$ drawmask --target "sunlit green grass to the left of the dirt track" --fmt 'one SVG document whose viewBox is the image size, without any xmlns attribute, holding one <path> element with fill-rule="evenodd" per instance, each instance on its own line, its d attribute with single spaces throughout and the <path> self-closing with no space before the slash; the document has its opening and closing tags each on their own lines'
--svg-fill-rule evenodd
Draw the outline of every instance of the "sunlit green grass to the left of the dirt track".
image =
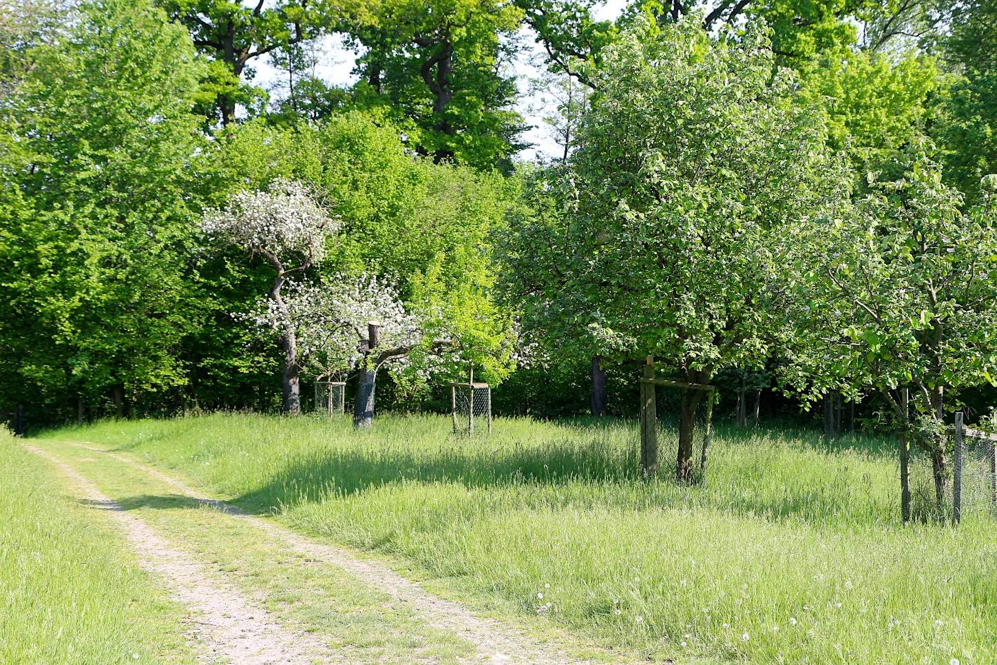
<svg viewBox="0 0 997 665">
<path fill-rule="evenodd" d="M 0 429 L 0 663 L 192 663 L 121 534 Z"/>
</svg>

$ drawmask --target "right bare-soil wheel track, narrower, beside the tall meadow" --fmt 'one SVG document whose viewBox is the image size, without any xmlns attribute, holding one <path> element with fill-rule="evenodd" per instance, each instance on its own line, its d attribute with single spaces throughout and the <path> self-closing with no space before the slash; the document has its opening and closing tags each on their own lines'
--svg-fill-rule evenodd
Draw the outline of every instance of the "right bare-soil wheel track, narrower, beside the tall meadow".
<svg viewBox="0 0 997 665">
<path fill-rule="evenodd" d="M 357 580 L 389 594 L 398 602 L 405 603 L 409 609 L 420 616 L 427 624 L 457 634 L 472 643 L 477 650 L 477 654 L 474 656 L 472 662 L 522 665 L 574 665 L 576 663 L 580 665 L 583 662 L 590 662 L 574 659 L 564 650 L 544 644 L 494 619 L 476 616 L 463 605 L 433 595 L 423 589 L 417 582 L 399 575 L 382 563 L 358 558 L 340 547 L 314 542 L 279 524 L 274 524 L 264 518 L 243 513 L 236 506 L 209 497 L 203 492 L 199 492 L 155 468 L 103 448 L 88 445 L 87 443 L 79 441 L 63 442 L 99 452 L 130 464 L 156 477 L 183 496 L 211 505 L 235 518 L 246 520 L 253 526 L 263 530 L 268 536 L 283 541 L 289 548 L 301 554 L 339 566 L 353 575 Z M 44 451 L 38 451 L 45 454 Z M 79 476 L 75 471 L 73 473 Z M 148 530 L 148 527 L 146 528 Z M 255 614 L 255 616 L 259 616 L 259 614 Z M 342 662 L 339 659 L 337 661 Z M 266 661 L 239 660 L 237 662 L 256 663 Z"/>
</svg>

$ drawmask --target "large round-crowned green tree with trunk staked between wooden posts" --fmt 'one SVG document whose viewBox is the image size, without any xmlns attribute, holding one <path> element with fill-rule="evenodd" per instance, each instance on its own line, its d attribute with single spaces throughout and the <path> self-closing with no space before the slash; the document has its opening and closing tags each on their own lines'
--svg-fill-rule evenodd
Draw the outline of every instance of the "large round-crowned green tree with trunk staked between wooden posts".
<svg viewBox="0 0 997 665">
<path fill-rule="evenodd" d="M 589 318 L 598 312 L 604 328 L 687 382 L 761 362 L 773 332 L 775 240 L 839 183 L 824 127 L 785 102 L 793 77 L 773 76 L 756 27 L 714 39 L 697 18 L 628 33 L 604 57 L 553 209 L 565 254 L 544 265 Z M 546 252 L 538 242 L 517 248 L 520 262 Z M 540 278 L 524 287 L 542 290 Z M 684 480 L 703 396 L 683 393 Z"/>
</svg>

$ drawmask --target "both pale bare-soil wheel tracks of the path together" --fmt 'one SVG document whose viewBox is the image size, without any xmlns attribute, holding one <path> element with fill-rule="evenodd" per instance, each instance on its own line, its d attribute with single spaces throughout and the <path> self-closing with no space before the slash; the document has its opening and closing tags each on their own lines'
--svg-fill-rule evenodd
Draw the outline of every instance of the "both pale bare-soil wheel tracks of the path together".
<svg viewBox="0 0 997 665">
<path fill-rule="evenodd" d="M 384 564 L 358 558 L 347 550 L 315 542 L 271 520 L 245 514 L 235 506 L 206 496 L 176 478 L 127 456 L 77 441 L 61 443 L 86 448 L 105 456 L 108 462 L 113 459 L 138 469 L 178 495 L 213 506 L 226 518 L 241 520 L 259 529 L 268 540 L 279 541 L 284 547 L 307 555 L 309 560 L 338 567 L 372 590 L 388 594 L 394 602 L 404 604 L 422 625 L 470 643 L 472 655 L 457 657 L 459 662 L 536 665 L 579 662 L 562 648 L 541 642 L 495 619 L 478 616 L 459 603 L 427 592 L 418 583 Z M 212 569 L 207 562 L 198 560 L 184 551 L 185 548 L 177 546 L 189 543 L 170 543 L 162 532 L 124 510 L 71 464 L 71 460 L 35 445 L 25 444 L 25 447 L 57 465 L 76 483 L 92 505 L 109 511 L 122 527 L 142 565 L 165 581 L 176 601 L 198 613 L 198 623 L 205 627 L 201 636 L 206 638 L 214 659 L 239 665 L 351 662 L 350 651 L 334 646 L 335 640 L 330 646 L 330 641 L 321 635 L 289 626 L 272 616 L 258 599 L 240 592 L 233 580 L 226 579 L 224 571 Z M 415 660 L 425 659 L 414 655 Z"/>
</svg>

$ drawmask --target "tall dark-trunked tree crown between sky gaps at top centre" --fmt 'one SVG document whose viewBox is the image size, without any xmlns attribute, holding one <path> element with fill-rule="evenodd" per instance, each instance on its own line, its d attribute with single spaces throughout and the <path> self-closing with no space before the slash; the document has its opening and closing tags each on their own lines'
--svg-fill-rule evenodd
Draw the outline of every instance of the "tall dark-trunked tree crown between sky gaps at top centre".
<svg viewBox="0 0 997 665">
<path fill-rule="evenodd" d="M 358 50 L 360 103 L 390 105 L 414 125 L 411 141 L 436 161 L 492 169 L 519 145 L 515 81 L 503 40 L 520 11 L 497 0 L 385 0 L 342 28 Z"/>
</svg>

